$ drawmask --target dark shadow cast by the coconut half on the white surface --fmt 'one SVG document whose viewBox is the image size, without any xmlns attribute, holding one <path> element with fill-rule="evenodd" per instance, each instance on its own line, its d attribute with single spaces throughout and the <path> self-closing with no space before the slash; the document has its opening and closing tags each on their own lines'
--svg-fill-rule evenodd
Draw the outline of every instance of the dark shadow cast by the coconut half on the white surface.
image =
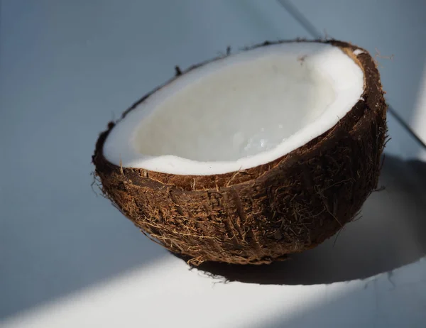
<svg viewBox="0 0 426 328">
<path fill-rule="evenodd" d="M 386 156 L 361 217 L 323 244 L 261 266 L 207 262 L 194 268 L 244 283 L 313 285 L 368 278 L 426 254 L 426 163 Z M 185 258 L 182 258 L 185 259 Z"/>
</svg>

